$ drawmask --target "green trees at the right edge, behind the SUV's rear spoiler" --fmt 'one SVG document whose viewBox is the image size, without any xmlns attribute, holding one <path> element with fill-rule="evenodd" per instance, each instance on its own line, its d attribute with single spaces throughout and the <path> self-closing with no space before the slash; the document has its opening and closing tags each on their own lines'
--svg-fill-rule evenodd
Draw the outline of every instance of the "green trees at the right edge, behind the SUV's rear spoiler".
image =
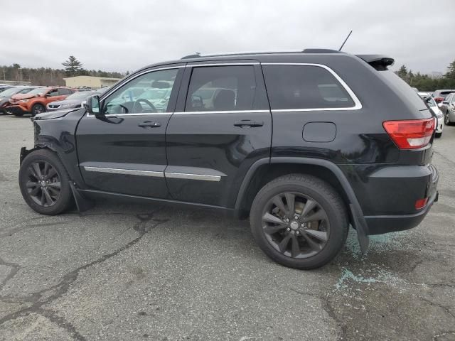
<svg viewBox="0 0 455 341">
<path fill-rule="evenodd" d="M 420 72 L 412 72 L 408 70 L 406 65 L 402 65 L 400 69 L 395 71 L 402 80 L 412 87 L 416 87 L 419 91 L 434 91 L 437 89 L 455 89 L 455 60 L 447 67 L 447 72 L 441 77 L 432 77 L 430 75 L 422 75 Z"/>
</svg>

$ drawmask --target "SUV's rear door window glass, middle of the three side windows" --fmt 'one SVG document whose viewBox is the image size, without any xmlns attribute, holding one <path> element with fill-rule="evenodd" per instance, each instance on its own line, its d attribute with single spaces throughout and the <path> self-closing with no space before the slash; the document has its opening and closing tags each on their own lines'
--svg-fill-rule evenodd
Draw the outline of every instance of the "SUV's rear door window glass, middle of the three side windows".
<svg viewBox="0 0 455 341">
<path fill-rule="evenodd" d="M 250 110 L 256 92 L 252 65 L 195 67 L 186 97 L 186 112 Z"/>
</svg>

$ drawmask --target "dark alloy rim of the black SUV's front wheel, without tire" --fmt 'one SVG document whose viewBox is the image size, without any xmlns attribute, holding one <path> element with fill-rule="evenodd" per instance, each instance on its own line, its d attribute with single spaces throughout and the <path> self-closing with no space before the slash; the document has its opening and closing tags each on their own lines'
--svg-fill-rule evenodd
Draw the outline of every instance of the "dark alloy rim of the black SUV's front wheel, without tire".
<svg viewBox="0 0 455 341">
<path fill-rule="evenodd" d="M 60 197 L 60 176 L 47 161 L 36 161 L 27 168 L 28 195 L 38 205 L 49 207 Z"/>
</svg>

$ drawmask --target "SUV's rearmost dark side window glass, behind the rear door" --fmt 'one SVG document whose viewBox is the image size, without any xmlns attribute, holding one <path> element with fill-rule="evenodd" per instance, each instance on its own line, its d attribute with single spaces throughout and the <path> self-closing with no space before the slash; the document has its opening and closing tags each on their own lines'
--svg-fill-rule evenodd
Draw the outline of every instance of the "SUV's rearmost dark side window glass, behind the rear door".
<svg viewBox="0 0 455 341">
<path fill-rule="evenodd" d="M 264 65 L 272 109 L 353 107 L 353 99 L 328 70 L 306 65 Z"/>
</svg>

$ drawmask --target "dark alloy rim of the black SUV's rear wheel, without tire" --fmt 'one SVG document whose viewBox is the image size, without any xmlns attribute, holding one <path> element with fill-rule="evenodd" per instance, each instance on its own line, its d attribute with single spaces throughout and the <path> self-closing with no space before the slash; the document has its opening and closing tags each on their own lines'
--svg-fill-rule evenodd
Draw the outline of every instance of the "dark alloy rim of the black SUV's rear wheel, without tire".
<svg viewBox="0 0 455 341">
<path fill-rule="evenodd" d="M 267 202 L 262 229 L 272 247 L 291 258 L 318 254 L 325 247 L 330 224 L 323 207 L 301 193 L 281 193 Z"/>
</svg>

